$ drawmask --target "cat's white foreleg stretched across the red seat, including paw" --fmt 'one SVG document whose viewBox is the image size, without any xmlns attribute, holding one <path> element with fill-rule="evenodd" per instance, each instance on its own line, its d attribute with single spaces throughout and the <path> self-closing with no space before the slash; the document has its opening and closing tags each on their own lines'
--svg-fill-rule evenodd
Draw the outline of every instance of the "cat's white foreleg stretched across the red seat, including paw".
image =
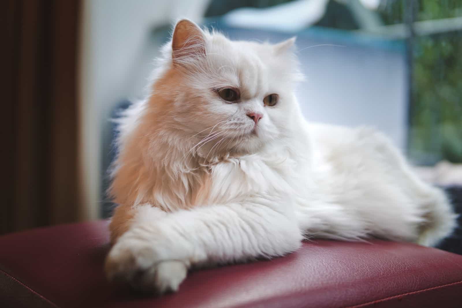
<svg viewBox="0 0 462 308">
<path fill-rule="evenodd" d="M 105 270 L 110 279 L 142 290 L 177 290 L 191 266 L 281 256 L 302 239 L 292 205 L 280 198 L 252 197 L 152 220 L 157 209 L 139 210 L 109 252 Z"/>
</svg>

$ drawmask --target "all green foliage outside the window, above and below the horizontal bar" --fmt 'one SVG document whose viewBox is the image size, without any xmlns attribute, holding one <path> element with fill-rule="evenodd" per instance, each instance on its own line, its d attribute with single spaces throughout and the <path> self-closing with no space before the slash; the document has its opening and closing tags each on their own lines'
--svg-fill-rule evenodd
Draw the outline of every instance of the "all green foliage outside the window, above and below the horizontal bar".
<svg viewBox="0 0 462 308">
<path fill-rule="evenodd" d="M 415 1 L 415 21 L 462 16 L 462 0 Z M 385 24 L 405 22 L 407 1 L 388 1 Z M 417 163 L 462 162 L 462 29 L 413 40 L 409 155 Z"/>
</svg>

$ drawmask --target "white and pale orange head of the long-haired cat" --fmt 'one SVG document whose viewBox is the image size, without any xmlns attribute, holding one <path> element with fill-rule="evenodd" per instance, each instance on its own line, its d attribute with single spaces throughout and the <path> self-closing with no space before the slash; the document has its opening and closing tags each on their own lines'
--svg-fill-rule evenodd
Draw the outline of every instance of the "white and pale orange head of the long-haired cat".
<svg viewBox="0 0 462 308">
<path fill-rule="evenodd" d="M 300 117 L 294 85 L 303 78 L 294 41 L 231 41 L 179 21 L 154 81 L 164 126 L 205 156 L 255 153 L 288 135 Z"/>
</svg>

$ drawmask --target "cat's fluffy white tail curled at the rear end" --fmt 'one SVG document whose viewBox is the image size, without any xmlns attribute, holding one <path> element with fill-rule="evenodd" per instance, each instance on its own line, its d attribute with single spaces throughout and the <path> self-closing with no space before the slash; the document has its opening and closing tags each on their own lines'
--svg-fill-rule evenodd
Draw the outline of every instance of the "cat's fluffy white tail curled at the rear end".
<svg viewBox="0 0 462 308">
<path fill-rule="evenodd" d="M 429 188 L 421 205 L 426 211 L 426 222 L 420 227 L 417 243 L 424 246 L 435 246 L 454 231 L 458 215 L 454 213 L 444 191 L 436 187 Z"/>
</svg>

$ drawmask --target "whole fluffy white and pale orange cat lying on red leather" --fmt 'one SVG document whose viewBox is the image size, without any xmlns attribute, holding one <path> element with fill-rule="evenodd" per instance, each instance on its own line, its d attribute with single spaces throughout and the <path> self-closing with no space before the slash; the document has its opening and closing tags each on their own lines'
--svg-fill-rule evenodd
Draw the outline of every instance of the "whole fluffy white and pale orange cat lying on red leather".
<svg viewBox="0 0 462 308">
<path fill-rule="evenodd" d="M 151 94 L 119 121 L 110 280 L 163 293 L 191 267 L 283 256 L 305 238 L 431 246 L 451 233 L 443 191 L 386 136 L 305 121 L 294 42 L 176 23 Z"/>
</svg>

